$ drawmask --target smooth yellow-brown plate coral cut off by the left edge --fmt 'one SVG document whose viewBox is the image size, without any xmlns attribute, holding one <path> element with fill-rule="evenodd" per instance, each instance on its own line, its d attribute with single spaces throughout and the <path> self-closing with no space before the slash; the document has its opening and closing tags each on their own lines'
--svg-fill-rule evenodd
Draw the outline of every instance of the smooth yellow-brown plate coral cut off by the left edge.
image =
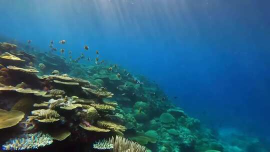
<svg viewBox="0 0 270 152">
<path fill-rule="evenodd" d="M 0 129 L 16 125 L 23 117 L 24 113 L 21 111 L 0 109 Z"/>
</svg>

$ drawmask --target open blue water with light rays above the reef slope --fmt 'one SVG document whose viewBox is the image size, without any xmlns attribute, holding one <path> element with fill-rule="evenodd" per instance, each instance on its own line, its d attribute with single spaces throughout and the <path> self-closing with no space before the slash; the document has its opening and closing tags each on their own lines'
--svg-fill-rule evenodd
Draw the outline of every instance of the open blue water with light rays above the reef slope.
<svg viewBox="0 0 270 152">
<path fill-rule="evenodd" d="M 212 128 L 270 136 L 267 0 L 0 0 L 0 35 L 110 60 Z M 58 48 L 59 48 L 58 44 Z M 57 46 L 56 46 L 57 47 Z M 65 52 L 65 53 L 66 53 Z M 177 98 L 173 98 L 177 96 Z"/>
</svg>

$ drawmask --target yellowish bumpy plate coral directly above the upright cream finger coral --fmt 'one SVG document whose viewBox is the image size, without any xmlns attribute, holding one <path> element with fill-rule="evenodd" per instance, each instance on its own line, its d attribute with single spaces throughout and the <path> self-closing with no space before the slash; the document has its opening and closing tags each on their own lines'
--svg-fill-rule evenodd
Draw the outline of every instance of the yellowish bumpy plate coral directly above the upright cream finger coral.
<svg viewBox="0 0 270 152">
<path fill-rule="evenodd" d="M 115 132 L 122 132 L 122 131 L 126 130 L 125 126 L 120 125 L 120 124 L 116 124 L 116 123 L 111 122 L 111 121 L 98 120 L 96 122 L 96 124 L 99 127 L 110 129 L 110 130 L 115 131 Z"/>
</svg>

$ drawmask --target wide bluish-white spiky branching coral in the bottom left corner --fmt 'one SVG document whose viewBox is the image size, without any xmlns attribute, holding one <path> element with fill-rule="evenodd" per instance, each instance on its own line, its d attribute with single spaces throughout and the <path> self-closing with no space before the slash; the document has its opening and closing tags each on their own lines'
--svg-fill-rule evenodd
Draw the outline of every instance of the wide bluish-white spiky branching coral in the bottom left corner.
<svg viewBox="0 0 270 152">
<path fill-rule="evenodd" d="M 53 142 L 52 137 L 42 132 L 23 134 L 19 138 L 11 138 L 2 145 L 3 150 L 38 149 Z"/>
</svg>

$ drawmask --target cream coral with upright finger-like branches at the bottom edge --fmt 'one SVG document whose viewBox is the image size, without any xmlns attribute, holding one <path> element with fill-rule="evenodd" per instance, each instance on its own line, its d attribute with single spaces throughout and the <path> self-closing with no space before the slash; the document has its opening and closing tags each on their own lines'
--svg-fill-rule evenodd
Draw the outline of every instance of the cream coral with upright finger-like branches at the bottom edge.
<svg viewBox="0 0 270 152">
<path fill-rule="evenodd" d="M 112 152 L 146 152 L 145 146 L 119 135 L 109 138 L 109 142 L 113 144 Z"/>
</svg>

